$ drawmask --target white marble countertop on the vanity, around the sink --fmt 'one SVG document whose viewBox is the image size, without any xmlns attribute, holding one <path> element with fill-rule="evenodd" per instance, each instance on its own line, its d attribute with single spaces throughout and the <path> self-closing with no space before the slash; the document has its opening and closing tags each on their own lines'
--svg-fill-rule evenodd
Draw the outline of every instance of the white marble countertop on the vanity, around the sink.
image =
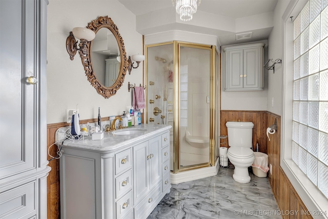
<svg viewBox="0 0 328 219">
<path fill-rule="evenodd" d="M 156 135 L 162 131 L 166 131 L 172 128 L 170 125 L 156 125 L 156 124 L 141 124 L 138 126 L 132 126 L 124 129 L 117 129 L 121 131 L 127 130 L 145 130 L 142 134 L 128 134 L 117 135 L 115 131 L 104 132 L 104 138 L 102 140 L 92 140 L 92 136 L 85 137 L 83 140 L 65 140 L 63 145 L 73 148 L 83 148 L 87 150 L 111 152 L 120 148 L 129 146 L 137 141 L 144 140 L 152 135 Z M 63 133 L 67 131 L 67 127 L 59 128 L 56 132 L 56 142 L 61 144 L 63 142 Z M 61 138 L 59 137 L 61 136 Z M 60 143 L 59 143 L 60 142 Z"/>
</svg>

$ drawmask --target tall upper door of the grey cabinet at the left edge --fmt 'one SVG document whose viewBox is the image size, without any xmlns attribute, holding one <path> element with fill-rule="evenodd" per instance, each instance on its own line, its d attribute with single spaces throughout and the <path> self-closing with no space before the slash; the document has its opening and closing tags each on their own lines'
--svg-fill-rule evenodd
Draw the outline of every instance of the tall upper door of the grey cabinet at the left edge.
<svg viewBox="0 0 328 219">
<path fill-rule="evenodd" d="M 0 1 L 0 10 L 1 181 L 36 168 L 35 150 L 38 137 L 43 137 L 38 136 L 37 128 L 44 121 L 38 123 L 39 84 L 26 82 L 29 76 L 39 76 L 34 60 L 37 55 L 34 2 Z"/>
</svg>

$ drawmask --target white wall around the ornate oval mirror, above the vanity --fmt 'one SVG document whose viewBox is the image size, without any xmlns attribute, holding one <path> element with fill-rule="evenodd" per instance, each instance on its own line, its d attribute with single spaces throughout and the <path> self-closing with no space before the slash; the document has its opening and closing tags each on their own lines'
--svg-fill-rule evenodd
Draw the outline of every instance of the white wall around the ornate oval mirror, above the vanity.
<svg viewBox="0 0 328 219">
<path fill-rule="evenodd" d="M 105 99 L 90 85 L 78 53 L 71 61 L 66 38 L 74 27 L 85 27 L 98 16 L 108 15 L 118 27 L 127 55 L 142 54 L 142 35 L 135 31 L 135 15 L 116 0 L 50 0 L 47 38 L 47 124 L 66 121 L 66 109 L 79 109 L 80 120 L 122 114 L 131 106 L 128 82 L 142 84 L 142 65 L 127 73 L 117 93 Z"/>
</svg>

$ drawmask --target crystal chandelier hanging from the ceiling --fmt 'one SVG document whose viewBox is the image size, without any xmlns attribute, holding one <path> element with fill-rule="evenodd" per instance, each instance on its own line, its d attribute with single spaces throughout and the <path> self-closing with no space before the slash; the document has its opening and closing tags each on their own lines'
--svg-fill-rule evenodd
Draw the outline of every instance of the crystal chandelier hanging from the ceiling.
<svg viewBox="0 0 328 219">
<path fill-rule="evenodd" d="M 193 18 L 193 14 L 196 13 L 200 2 L 201 0 L 172 0 L 176 13 L 180 15 L 181 21 L 184 22 L 188 22 Z"/>
</svg>

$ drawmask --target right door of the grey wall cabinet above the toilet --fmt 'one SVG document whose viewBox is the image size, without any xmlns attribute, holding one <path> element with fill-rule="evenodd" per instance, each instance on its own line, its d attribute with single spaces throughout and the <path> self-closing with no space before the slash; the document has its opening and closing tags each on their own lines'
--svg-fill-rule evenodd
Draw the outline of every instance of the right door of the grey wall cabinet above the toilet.
<svg viewBox="0 0 328 219">
<path fill-rule="evenodd" d="M 258 48 L 243 50 L 243 88 L 258 88 Z"/>
</svg>

